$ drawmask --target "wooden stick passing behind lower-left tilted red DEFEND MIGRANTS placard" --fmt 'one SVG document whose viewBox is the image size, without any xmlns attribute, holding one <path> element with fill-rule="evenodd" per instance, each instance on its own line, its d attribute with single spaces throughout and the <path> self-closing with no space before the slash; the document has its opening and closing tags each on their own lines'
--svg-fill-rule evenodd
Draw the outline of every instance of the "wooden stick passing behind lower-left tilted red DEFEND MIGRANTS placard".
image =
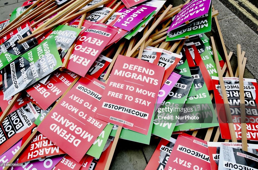
<svg viewBox="0 0 258 170">
<path fill-rule="evenodd" d="M 55 105 L 53 106 L 53 108 L 49 111 L 49 113 L 55 108 L 55 106 L 58 105 L 58 103 L 63 99 L 63 97 L 71 90 L 72 86 L 75 85 L 75 83 L 79 80 L 80 76 L 77 76 L 74 81 L 71 83 L 71 85 L 67 88 L 67 90 L 65 91 L 65 93 L 60 97 L 60 99 L 55 103 Z M 47 116 L 50 114 L 47 114 Z M 47 117 L 45 116 L 44 119 Z M 44 120 L 43 119 L 43 120 Z M 9 163 L 14 163 L 18 157 L 22 154 L 22 152 L 26 149 L 26 147 L 30 144 L 30 142 L 34 139 L 34 137 L 36 136 L 37 133 L 37 129 L 34 130 L 33 133 L 31 133 L 31 135 L 28 137 L 28 139 L 23 143 L 23 145 L 21 146 L 21 148 L 15 153 L 15 155 L 12 157 L 12 159 L 9 161 Z M 9 166 L 4 167 L 4 170 L 7 170 Z"/>
</svg>

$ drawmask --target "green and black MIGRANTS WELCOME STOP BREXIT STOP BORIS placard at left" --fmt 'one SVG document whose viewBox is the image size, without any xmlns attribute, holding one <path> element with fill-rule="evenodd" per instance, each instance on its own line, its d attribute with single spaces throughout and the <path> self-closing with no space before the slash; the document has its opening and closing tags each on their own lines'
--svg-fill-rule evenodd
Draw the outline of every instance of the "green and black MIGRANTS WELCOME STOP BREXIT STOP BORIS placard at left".
<svg viewBox="0 0 258 170">
<path fill-rule="evenodd" d="M 53 38 L 27 51 L 3 69 L 4 99 L 8 99 L 62 65 Z"/>
</svg>

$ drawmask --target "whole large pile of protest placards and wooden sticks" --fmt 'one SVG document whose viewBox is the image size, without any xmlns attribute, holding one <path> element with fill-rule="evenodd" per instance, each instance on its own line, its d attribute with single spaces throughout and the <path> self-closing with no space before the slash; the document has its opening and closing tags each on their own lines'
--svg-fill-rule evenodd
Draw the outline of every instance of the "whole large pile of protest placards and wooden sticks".
<svg viewBox="0 0 258 170">
<path fill-rule="evenodd" d="M 14 9 L 0 22 L 3 169 L 107 170 L 119 138 L 151 136 L 162 139 L 147 170 L 257 169 L 258 145 L 247 140 L 258 140 L 258 86 L 243 78 L 240 45 L 233 75 L 216 15 L 211 0 Z M 221 55 L 204 34 L 212 20 Z"/>
</svg>

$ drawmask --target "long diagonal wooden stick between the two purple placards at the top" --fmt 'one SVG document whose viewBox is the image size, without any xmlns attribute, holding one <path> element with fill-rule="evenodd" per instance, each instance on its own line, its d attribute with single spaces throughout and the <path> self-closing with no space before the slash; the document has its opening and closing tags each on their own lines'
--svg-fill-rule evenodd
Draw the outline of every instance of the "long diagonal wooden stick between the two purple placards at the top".
<svg viewBox="0 0 258 170">
<path fill-rule="evenodd" d="M 145 41 L 145 39 L 151 34 L 151 32 L 158 26 L 160 21 L 165 17 L 166 13 L 169 11 L 169 9 L 172 7 L 172 5 L 169 5 L 165 12 L 155 21 L 155 23 L 150 27 L 150 29 L 147 31 L 146 34 L 143 35 L 143 37 L 140 39 L 140 41 L 133 47 L 132 51 L 130 51 L 129 56 L 131 56 L 137 49 L 140 47 L 140 45 Z"/>
</svg>

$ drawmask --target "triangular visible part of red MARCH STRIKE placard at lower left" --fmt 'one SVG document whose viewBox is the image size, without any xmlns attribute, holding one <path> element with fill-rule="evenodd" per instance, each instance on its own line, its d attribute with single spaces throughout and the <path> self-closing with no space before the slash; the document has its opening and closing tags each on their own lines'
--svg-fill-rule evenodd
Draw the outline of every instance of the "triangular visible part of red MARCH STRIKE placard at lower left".
<svg viewBox="0 0 258 170">
<path fill-rule="evenodd" d="M 57 145 L 52 143 L 42 134 L 34 137 L 28 147 L 22 152 L 18 163 L 27 162 L 30 160 L 42 158 L 44 156 L 53 156 L 65 154 Z"/>
</svg>

